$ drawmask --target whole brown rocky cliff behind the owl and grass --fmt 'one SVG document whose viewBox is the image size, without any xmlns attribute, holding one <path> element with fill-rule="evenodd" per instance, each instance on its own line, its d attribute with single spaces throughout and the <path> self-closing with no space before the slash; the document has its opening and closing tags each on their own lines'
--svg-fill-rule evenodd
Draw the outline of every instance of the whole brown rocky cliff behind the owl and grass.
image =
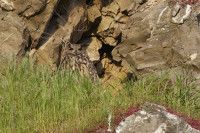
<svg viewBox="0 0 200 133">
<path fill-rule="evenodd" d="M 54 70 L 68 41 L 87 44 L 103 82 L 177 67 L 199 78 L 199 22 L 198 0 L 0 0 L 0 64 L 28 53 Z"/>
</svg>

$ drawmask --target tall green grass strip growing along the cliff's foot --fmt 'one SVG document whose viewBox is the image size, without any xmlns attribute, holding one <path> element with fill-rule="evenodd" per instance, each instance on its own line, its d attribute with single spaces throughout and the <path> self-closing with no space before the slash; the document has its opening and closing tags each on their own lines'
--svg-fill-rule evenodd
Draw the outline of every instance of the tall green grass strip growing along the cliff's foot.
<svg viewBox="0 0 200 133">
<path fill-rule="evenodd" d="M 27 58 L 19 65 L 8 61 L 0 75 L 0 132 L 87 132 L 84 129 L 107 125 L 108 115 L 116 109 L 123 113 L 132 103 L 146 101 L 200 119 L 200 91 L 184 75 L 177 77 L 175 85 L 167 73 L 123 85 L 116 94 L 112 87 L 95 85 L 75 71 L 50 73 Z"/>
</svg>

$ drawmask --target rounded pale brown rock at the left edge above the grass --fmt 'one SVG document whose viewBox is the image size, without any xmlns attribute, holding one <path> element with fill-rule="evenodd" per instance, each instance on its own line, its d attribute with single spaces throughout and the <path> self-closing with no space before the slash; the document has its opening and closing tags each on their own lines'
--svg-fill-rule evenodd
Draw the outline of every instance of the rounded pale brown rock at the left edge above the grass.
<svg viewBox="0 0 200 133">
<path fill-rule="evenodd" d="M 0 12 L 0 64 L 12 56 L 21 57 L 29 46 L 29 31 L 13 12 Z"/>
</svg>

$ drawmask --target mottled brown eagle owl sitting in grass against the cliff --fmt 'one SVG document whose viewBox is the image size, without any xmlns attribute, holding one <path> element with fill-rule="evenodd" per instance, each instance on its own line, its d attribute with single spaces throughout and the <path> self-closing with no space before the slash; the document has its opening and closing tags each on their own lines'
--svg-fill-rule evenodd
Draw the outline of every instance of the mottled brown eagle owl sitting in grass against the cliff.
<svg viewBox="0 0 200 133">
<path fill-rule="evenodd" d="M 89 77 L 92 82 L 99 82 L 96 68 L 86 51 L 84 44 L 63 42 L 60 67 L 78 70 L 81 75 Z"/>
</svg>

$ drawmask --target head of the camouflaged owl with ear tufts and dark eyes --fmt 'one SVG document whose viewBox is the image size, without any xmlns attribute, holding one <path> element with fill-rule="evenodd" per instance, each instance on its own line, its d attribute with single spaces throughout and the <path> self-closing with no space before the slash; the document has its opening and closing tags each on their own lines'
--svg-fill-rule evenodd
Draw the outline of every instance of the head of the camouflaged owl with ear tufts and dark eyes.
<svg viewBox="0 0 200 133">
<path fill-rule="evenodd" d="M 86 46 L 84 44 L 72 44 L 70 42 L 64 43 L 63 49 L 66 54 L 78 55 L 86 52 Z"/>
</svg>

